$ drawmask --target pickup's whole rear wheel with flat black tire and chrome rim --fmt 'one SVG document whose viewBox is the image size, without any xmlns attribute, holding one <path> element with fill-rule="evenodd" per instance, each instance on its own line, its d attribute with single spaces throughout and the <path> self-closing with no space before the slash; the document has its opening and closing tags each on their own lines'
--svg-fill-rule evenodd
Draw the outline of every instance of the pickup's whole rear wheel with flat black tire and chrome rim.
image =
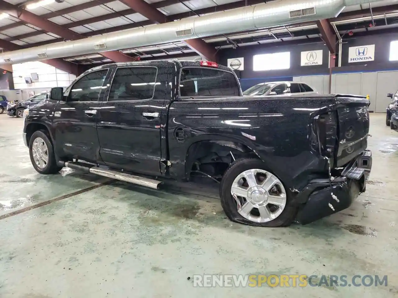
<svg viewBox="0 0 398 298">
<path fill-rule="evenodd" d="M 259 159 L 238 159 L 220 184 L 221 205 L 231 221 L 252 226 L 289 226 L 298 208 L 291 192 Z"/>
</svg>

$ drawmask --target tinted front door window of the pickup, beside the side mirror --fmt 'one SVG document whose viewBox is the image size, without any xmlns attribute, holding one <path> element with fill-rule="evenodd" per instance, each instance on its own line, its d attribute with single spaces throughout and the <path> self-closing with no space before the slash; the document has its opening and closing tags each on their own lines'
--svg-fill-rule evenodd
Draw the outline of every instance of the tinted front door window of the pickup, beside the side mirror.
<svg viewBox="0 0 398 298">
<path fill-rule="evenodd" d="M 103 69 L 81 77 L 72 86 L 68 101 L 98 101 L 101 90 L 106 88 L 102 85 L 107 72 L 107 69 Z"/>
</svg>

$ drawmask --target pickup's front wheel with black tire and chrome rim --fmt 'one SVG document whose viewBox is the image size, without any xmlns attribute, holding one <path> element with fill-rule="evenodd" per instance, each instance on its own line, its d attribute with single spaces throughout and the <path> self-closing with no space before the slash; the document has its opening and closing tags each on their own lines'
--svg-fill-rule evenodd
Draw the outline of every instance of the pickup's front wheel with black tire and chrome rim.
<svg viewBox="0 0 398 298">
<path fill-rule="evenodd" d="M 38 130 L 31 136 L 29 156 L 33 168 L 40 174 L 55 174 L 62 169 L 57 165 L 53 144 L 44 130 Z"/>
</svg>

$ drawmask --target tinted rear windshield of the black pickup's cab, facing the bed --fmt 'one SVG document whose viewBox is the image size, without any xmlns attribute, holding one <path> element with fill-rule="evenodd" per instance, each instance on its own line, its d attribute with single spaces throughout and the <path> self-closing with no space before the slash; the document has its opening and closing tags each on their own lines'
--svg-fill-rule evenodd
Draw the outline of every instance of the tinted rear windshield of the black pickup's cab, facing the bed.
<svg viewBox="0 0 398 298">
<path fill-rule="evenodd" d="M 212 68 L 183 68 L 179 83 L 181 96 L 239 96 L 240 87 L 230 72 Z"/>
</svg>

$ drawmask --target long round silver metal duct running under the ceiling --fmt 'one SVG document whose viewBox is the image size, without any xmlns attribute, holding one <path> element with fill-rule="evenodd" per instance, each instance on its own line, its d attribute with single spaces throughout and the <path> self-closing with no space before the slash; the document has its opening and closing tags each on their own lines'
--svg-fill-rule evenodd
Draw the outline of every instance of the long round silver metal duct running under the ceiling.
<svg viewBox="0 0 398 298">
<path fill-rule="evenodd" d="M 377 1 L 380 0 L 276 0 L 215 12 L 201 17 L 187 17 L 179 21 L 133 28 L 75 41 L 4 52 L 0 54 L 0 61 L 11 59 L 13 63 L 21 63 L 41 60 L 38 59 L 39 53 L 46 53 L 46 59 L 79 56 L 98 52 L 96 45 L 101 44 L 106 45 L 106 50 L 121 50 L 316 21 L 336 17 L 345 6 Z"/>
</svg>

